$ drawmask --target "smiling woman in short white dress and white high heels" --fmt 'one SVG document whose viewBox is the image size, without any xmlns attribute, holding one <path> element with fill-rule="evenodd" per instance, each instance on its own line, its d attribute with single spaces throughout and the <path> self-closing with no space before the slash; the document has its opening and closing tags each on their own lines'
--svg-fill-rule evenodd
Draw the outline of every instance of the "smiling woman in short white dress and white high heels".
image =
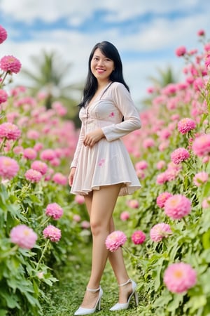
<svg viewBox="0 0 210 316">
<path fill-rule="evenodd" d="M 115 230 L 113 209 L 119 195 L 141 187 L 130 156 L 120 138 L 140 129 L 139 113 L 123 79 L 118 50 L 108 41 L 98 43 L 89 58 L 87 81 L 80 103 L 82 122 L 71 163 L 71 193 L 84 195 L 92 232 L 92 270 L 83 303 L 74 315 L 92 314 L 103 295 L 100 281 L 107 258 L 119 285 L 119 301 L 111 310 L 127 309 L 137 284 L 127 275 L 122 250 L 109 252 L 106 237 Z"/>
</svg>

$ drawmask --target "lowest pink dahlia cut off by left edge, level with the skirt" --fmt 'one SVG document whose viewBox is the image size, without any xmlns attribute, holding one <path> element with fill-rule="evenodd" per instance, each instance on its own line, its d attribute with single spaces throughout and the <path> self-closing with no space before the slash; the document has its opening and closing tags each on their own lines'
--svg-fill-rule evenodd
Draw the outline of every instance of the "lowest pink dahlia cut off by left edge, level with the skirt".
<svg viewBox="0 0 210 316">
<path fill-rule="evenodd" d="M 0 157 L 0 176 L 6 179 L 12 179 L 17 175 L 20 167 L 15 159 L 10 157 Z"/>
</svg>

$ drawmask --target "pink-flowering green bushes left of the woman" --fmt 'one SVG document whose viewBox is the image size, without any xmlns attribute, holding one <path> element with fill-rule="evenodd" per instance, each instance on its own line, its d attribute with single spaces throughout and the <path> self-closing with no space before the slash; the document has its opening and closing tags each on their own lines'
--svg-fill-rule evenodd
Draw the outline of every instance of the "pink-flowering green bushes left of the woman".
<svg viewBox="0 0 210 316">
<path fill-rule="evenodd" d="M 0 26 L 0 44 L 7 38 Z M 4 87 L 20 71 L 13 56 L 0 60 L 0 315 L 43 315 L 41 302 L 56 279 L 56 265 L 86 242 L 69 194 L 67 176 L 78 132 L 64 107 L 20 86 Z M 6 81 L 8 79 L 8 81 Z"/>
</svg>

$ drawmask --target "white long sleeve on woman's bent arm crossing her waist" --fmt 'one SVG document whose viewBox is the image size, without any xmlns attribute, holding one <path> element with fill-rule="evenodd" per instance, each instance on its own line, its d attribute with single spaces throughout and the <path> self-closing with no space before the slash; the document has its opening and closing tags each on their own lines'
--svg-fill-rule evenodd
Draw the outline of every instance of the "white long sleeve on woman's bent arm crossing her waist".
<svg viewBox="0 0 210 316">
<path fill-rule="evenodd" d="M 124 121 L 120 121 L 118 124 L 102 127 L 104 136 L 109 142 L 121 138 L 141 127 L 139 112 L 137 111 L 127 88 L 125 88 L 123 84 L 116 83 L 113 87 L 112 96 L 113 102 L 124 117 Z"/>
</svg>

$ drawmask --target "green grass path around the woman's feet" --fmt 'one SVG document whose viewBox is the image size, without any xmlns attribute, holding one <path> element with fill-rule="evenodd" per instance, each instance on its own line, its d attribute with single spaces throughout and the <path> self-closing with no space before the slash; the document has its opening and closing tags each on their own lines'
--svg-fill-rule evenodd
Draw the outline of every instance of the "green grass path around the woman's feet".
<svg viewBox="0 0 210 316">
<path fill-rule="evenodd" d="M 90 275 L 90 246 L 86 249 L 79 249 L 76 257 L 69 258 L 69 264 L 64 268 L 59 268 L 57 271 L 57 278 L 59 282 L 53 285 L 48 291 L 48 303 L 43 305 L 43 316 L 70 316 L 77 310 L 83 295 L 85 287 Z M 126 259 L 125 259 L 126 260 Z M 127 263 L 127 260 L 126 260 Z M 128 270 L 132 270 L 128 267 Z M 130 277 L 134 272 L 130 272 Z M 135 277 L 134 277 L 135 278 Z M 102 297 L 102 309 L 95 312 L 97 316 L 139 316 L 139 308 L 134 306 L 134 298 L 130 308 L 118 312 L 110 312 L 109 308 L 118 301 L 118 285 L 113 276 L 111 265 L 106 265 L 104 275 L 101 282 L 104 296 Z M 146 315 L 150 316 L 150 315 Z"/>
</svg>

